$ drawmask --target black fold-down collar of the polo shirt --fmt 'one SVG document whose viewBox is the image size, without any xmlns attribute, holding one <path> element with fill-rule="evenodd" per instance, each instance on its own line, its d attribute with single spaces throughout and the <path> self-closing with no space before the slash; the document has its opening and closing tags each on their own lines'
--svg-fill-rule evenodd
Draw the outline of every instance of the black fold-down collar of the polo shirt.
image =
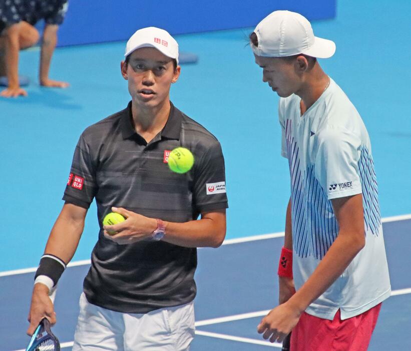
<svg viewBox="0 0 411 351">
<path fill-rule="evenodd" d="M 180 138 L 181 131 L 181 115 L 180 113 L 177 113 L 177 109 L 174 108 L 174 105 L 171 101 L 170 105 L 170 114 L 168 115 L 166 125 L 161 131 L 161 137 L 178 140 Z M 131 101 L 129 102 L 127 108 L 124 111 L 125 113 L 120 121 L 121 133 L 123 135 L 123 139 L 128 139 L 133 135 L 137 134 L 136 130 L 134 129 L 134 126 L 131 123 L 131 120 L 133 119 L 131 114 Z"/>
</svg>

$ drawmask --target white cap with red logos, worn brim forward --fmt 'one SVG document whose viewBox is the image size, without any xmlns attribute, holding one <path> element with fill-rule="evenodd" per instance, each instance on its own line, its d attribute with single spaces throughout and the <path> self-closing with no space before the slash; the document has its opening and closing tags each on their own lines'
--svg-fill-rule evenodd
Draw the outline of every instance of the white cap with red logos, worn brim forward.
<svg viewBox="0 0 411 351">
<path fill-rule="evenodd" d="M 178 64 L 178 43 L 168 31 L 157 27 L 147 27 L 137 30 L 127 41 L 127 57 L 140 47 L 155 47 L 170 58 L 174 58 Z"/>
</svg>

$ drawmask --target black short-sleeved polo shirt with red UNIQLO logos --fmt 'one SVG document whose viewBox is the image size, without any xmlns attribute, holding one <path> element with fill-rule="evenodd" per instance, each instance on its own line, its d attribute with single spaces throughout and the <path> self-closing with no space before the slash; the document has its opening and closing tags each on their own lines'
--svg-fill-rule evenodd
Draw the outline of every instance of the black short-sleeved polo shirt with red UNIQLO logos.
<svg viewBox="0 0 411 351">
<path fill-rule="evenodd" d="M 185 174 L 167 164 L 168 151 L 178 146 L 194 155 Z M 119 245 L 104 237 L 102 218 L 116 206 L 185 222 L 228 207 L 218 140 L 171 104 L 166 125 L 147 144 L 133 127 L 130 102 L 80 136 L 63 199 L 88 208 L 93 198 L 100 232 L 84 280 L 88 301 L 129 313 L 190 302 L 196 295 L 196 248 L 150 239 Z"/>
</svg>

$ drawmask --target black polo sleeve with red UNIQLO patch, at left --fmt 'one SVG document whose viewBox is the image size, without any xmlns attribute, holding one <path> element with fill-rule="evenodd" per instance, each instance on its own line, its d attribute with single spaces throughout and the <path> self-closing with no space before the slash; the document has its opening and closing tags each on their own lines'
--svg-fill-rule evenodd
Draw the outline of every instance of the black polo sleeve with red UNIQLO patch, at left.
<svg viewBox="0 0 411 351">
<path fill-rule="evenodd" d="M 97 192 L 96 169 L 97 164 L 93 161 L 89 144 L 82 135 L 74 151 L 63 200 L 89 208 Z"/>
</svg>

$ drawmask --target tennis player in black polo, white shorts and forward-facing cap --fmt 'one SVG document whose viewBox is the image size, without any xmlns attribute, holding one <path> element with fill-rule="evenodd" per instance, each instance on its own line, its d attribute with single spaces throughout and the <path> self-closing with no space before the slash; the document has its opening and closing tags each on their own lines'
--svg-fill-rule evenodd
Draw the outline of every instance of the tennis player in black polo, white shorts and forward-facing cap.
<svg viewBox="0 0 411 351">
<path fill-rule="evenodd" d="M 170 102 L 180 66 L 168 32 L 148 27 L 133 34 L 121 72 L 131 101 L 80 136 L 65 204 L 36 273 L 28 333 L 43 317 L 56 322 L 48 295 L 76 251 L 95 199 L 100 232 L 73 350 L 188 350 L 196 247 L 218 247 L 226 232 L 224 158 L 218 140 Z M 195 158 L 184 174 L 167 164 L 178 146 Z M 112 210 L 127 219 L 103 227 Z"/>
</svg>

